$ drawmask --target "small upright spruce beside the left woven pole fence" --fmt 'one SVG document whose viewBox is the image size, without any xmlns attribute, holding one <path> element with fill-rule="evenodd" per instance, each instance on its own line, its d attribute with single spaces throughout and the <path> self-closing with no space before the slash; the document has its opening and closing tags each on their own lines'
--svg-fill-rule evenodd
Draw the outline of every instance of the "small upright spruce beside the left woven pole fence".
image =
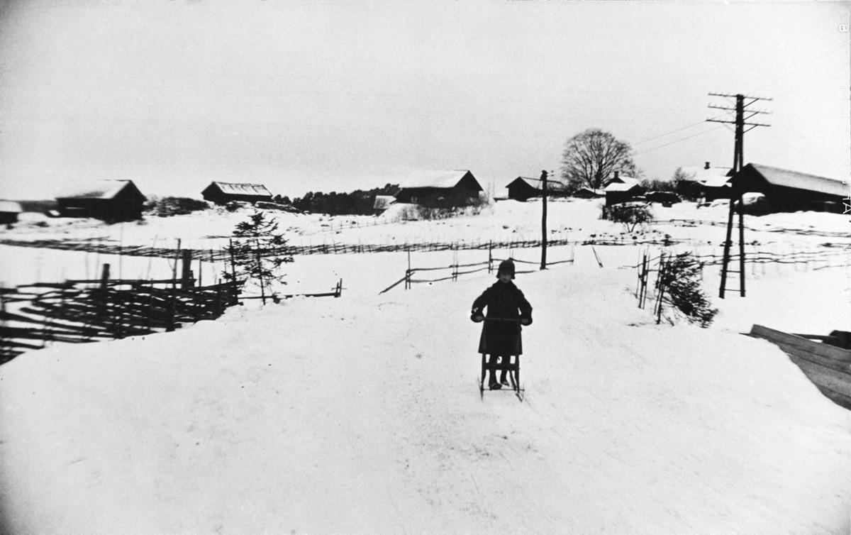
<svg viewBox="0 0 851 535">
<path fill-rule="evenodd" d="M 240 221 L 233 230 L 233 239 L 228 246 L 233 266 L 222 273 L 228 281 L 245 280 L 259 285 L 261 290 L 272 281 L 287 284 L 283 274 L 278 273 L 293 256 L 286 249 L 287 240 L 277 232 L 277 221 L 266 216 L 266 212 L 255 210 L 248 221 Z"/>
</svg>

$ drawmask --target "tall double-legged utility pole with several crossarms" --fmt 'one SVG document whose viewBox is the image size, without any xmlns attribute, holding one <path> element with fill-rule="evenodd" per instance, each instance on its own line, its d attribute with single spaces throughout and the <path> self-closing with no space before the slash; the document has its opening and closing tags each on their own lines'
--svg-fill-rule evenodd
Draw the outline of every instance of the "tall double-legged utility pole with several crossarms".
<svg viewBox="0 0 851 535">
<path fill-rule="evenodd" d="M 757 112 L 754 110 L 746 110 L 747 106 L 751 106 L 754 102 L 757 101 L 770 101 L 771 99 L 758 97 L 758 96 L 745 96 L 741 94 L 736 95 L 724 95 L 722 93 L 710 93 L 711 96 L 722 96 L 726 98 L 735 98 L 736 103 L 735 107 L 727 107 L 727 106 L 712 106 L 711 108 L 716 108 L 719 110 L 728 110 L 730 112 L 735 112 L 734 120 L 721 120 L 721 119 L 706 119 L 710 123 L 727 123 L 735 125 L 735 143 L 733 150 L 733 170 L 731 171 L 731 176 L 738 175 L 739 171 L 742 170 L 742 167 L 745 165 L 745 132 L 751 131 L 751 129 L 757 128 L 757 126 L 771 126 L 770 124 L 762 124 L 762 123 L 748 123 L 748 119 L 754 117 L 759 113 L 768 113 L 768 112 Z M 745 102 L 745 99 L 748 99 L 748 102 Z M 745 111 L 748 112 L 748 115 L 745 117 Z M 749 126 L 750 128 L 745 129 L 745 126 Z M 729 271 L 729 263 L 730 263 L 730 247 L 733 244 L 733 215 L 734 215 L 734 205 L 736 201 L 739 202 L 739 295 L 745 296 L 745 216 L 744 216 L 744 204 L 742 203 L 742 193 L 744 192 L 744 188 L 741 187 L 736 181 L 733 182 L 732 188 L 730 191 L 730 210 L 727 219 L 727 239 L 724 241 L 724 256 L 722 260 L 722 268 L 721 268 L 721 287 L 718 291 L 718 296 L 722 299 L 724 298 L 724 291 L 727 290 L 727 274 L 728 273 L 737 273 Z"/>
</svg>

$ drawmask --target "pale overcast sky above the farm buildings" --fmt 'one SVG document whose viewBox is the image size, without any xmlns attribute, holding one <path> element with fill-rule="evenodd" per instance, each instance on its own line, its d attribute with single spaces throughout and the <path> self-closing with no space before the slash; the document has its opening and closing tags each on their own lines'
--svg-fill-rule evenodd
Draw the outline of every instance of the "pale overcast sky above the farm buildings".
<svg viewBox="0 0 851 535">
<path fill-rule="evenodd" d="M 290 197 L 557 170 L 608 130 L 648 178 L 745 162 L 847 179 L 849 4 L 0 0 L 0 198 L 131 179 Z M 843 26 L 845 25 L 845 26 Z M 732 116 L 728 116 L 732 118 Z"/>
</svg>

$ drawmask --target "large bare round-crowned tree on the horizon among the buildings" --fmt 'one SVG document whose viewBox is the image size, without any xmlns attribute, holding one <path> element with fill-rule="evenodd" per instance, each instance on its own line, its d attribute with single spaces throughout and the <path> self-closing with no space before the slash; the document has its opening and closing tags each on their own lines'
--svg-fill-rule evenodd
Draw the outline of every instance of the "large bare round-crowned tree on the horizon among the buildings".
<svg viewBox="0 0 851 535">
<path fill-rule="evenodd" d="M 636 174 L 632 147 L 601 129 L 591 128 L 570 138 L 562 153 L 562 176 L 570 187 L 603 187 L 615 170 Z"/>
</svg>

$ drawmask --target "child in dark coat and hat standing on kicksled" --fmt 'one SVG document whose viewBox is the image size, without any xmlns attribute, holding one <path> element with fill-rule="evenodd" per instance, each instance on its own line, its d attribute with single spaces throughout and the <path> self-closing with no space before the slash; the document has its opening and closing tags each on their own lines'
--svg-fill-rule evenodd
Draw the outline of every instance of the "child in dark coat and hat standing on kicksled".
<svg viewBox="0 0 851 535">
<path fill-rule="evenodd" d="M 479 322 L 485 317 L 482 311 L 488 308 L 488 321 L 482 325 L 479 338 L 479 353 L 490 354 L 491 389 L 507 386 L 507 370 L 503 369 L 500 381 L 496 380 L 496 363 L 508 362 L 511 355 L 523 354 L 520 325 L 532 324 L 532 305 L 523 292 L 511 282 L 514 279 L 514 262 L 510 259 L 500 263 L 497 281 L 473 302 L 470 319 Z"/>
</svg>

